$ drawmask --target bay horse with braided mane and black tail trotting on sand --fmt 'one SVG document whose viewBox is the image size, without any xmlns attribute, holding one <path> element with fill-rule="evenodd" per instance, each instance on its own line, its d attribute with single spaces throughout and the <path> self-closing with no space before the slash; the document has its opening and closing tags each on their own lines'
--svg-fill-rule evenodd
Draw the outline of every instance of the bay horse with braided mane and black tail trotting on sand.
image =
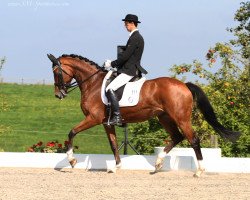
<svg viewBox="0 0 250 200">
<path fill-rule="evenodd" d="M 74 54 L 62 55 L 59 58 L 48 54 L 48 58 L 52 62 L 55 96 L 63 99 L 72 85 L 78 86 L 81 91 L 81 109 L 85 119 L 72 128 L 68 134 L 67 157 L 73 168 L 77 163 L 73 157 L 74 137 L 81 131 L 107 121 L 106 108 L 101 100 L 102 81 L 107 71 L 95 62 Z M 71 83 L 72 79 L 75 79 L 76 82 Z M 145 81 L 141 88 L 138 104 L 121 108 L 124 124 L 142 122 L 157 117 L 163 128 L 170 134 L 171 142 L 158 155 L 155 172 L 162 168 L 166 154 L 184 138 L 194 149 L 198 161 L 195 176 L 199 177 L 204 171 L 200 140 L 191 125 L 192 108 L 195 101 L 205 120 L 221 137 L 232 142 L 238 139 L 239 132 L 230 131 L 218 122 L 208 98 L 200 87 L 192 83 L 183 83 L 174 78 L 161 77 Z M 121 159 L 115 127 L 105 124 L 103 126 L 115 157 L 116 167 L 119 168 Z"/>
</svg>

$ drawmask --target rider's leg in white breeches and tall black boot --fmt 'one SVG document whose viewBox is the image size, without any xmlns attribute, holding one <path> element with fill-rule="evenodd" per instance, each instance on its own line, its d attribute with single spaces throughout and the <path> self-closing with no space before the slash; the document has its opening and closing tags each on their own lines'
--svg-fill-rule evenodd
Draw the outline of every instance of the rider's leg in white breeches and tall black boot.
<svg viewBox="0 0 250 200">
<path fill-rule="evenodd" d="M 109 102 L 111 103 L 111 111 L 112 111 L 112 118 L 109 121 L 110 125 L 122 125 L 122 117 L 119 109 L 119 102 L 117 100 L 117 97 L 114 93 L 115 90 L 117 90 L 119 87 L 123 86 L 127 82 L 129 82 L 130 79 L 132 79 L 133 76 L 129 76 L 127 74 L 120 74 L 117 76 L 106 88 L 107 92 L 107 98 Z"/>
</svg>

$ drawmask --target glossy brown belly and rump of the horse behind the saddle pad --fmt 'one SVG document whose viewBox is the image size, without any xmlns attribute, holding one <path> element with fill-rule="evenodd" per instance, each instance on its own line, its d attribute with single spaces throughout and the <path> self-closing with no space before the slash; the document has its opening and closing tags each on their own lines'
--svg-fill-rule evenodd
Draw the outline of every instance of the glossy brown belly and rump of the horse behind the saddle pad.
<svg viewBox="0 0 250 200">
<path fill-rule="evenodd" d="M 122 116 L 128 122 L 145 121 L 161 113 L 172 117 L 192 112 L 193 97 L 187 86 L 174 78 L 161 77 L 147 80 L 141 89 L 136 106 L 122 108 Z"/>
</svg>

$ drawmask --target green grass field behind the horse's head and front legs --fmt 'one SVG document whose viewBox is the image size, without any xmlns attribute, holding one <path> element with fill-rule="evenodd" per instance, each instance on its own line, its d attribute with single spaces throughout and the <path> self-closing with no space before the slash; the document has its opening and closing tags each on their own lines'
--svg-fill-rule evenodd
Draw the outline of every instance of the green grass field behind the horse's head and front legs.
<svg viewBox="0 0 250 200">
<path fill-rule="evenodd" d="M 1 83 L 0 106 L 0 129 L 8 127 L 0 131 L 0 150 L 5 152 L 25 152 L 39 141 L 63 143 L 70 129 L 84 119 L 78 89 L 61 101 L 54 97 L 52 85 Z M 123 129 L 117 128 L 117 136 L 121 143 Z M 76 153 L 112 153 L 101 125 L 79 133 L 74 141 L 79 146 Z"/>
</svg>

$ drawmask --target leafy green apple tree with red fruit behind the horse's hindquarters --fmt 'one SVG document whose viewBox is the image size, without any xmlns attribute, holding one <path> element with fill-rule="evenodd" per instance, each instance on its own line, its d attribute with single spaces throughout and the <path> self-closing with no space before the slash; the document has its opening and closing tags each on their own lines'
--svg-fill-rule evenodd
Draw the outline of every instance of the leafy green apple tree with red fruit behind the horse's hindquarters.
<svg viewBox="0 0 250 200">
<path fill-rule="evenodd" d="M 249 137 L 249 2 L 242 3 L 240 9 L 235 14 L 235 20 L 239 22 L 236 28 L 228 29 L 234 33 L 237 39 L 228 43 L 216 43 L 206 54 L 207 67 L 194 60 L 191 64 L 174 65 L 171 68 L 173 77 L 185 78 L 182 75 L 195 75 L 198 77 L 196 84 L 199 84 L 209 97 L 219 121 L 229 129 L 242 132 L 240 139 L 235 143 L 228 143 L 219 140 L 219 146 L 222 148 L 224 156 L 250 156 L 250 137 Z M 216 72 L 212 72 L 216 70 Z M 180 77 L 182 76 L 182 77 Z M 205 81 L 204 81 L 205 80 Z M 206 82 L 201 84 L 200 82 Z M 156 120 L 156 119 L 153 119 Z M 210 146 L 210 135 L 216 134 L 202 115 L 194 108 L 193 128 L 196 134 L 201 138 L 203 147 Z M 149 121 L 149 124 L 152 121 Z M 142 149 L 141 146 L 157 146 L 159 140 L 154 144 L 144 142 L 143 132 L 150 137 L 154 137 L 154 132 L 162 131 L 162 127 L 157 123 L 153 131 L 143 129 L 139 125 L 132 127 L 135 138 L 133 139 L 135 147 Z M 150 127 L 150 126 L 149 126 Z M 162 131 L 163 132 L 163 131 Z M 138 138 L 139 137 L 139 138 Z M 144 139 L 145 140 L 145 139 Z M 161 141 L 163 143 L 163 140 Z M 139 147 L 138 147 L 139 145 Z M 187 146 L 187 142 L 181 144 Z M 152 153 L 152 148 L 144 147 L 149 151 L 141 153 Z"/>
</svg>

